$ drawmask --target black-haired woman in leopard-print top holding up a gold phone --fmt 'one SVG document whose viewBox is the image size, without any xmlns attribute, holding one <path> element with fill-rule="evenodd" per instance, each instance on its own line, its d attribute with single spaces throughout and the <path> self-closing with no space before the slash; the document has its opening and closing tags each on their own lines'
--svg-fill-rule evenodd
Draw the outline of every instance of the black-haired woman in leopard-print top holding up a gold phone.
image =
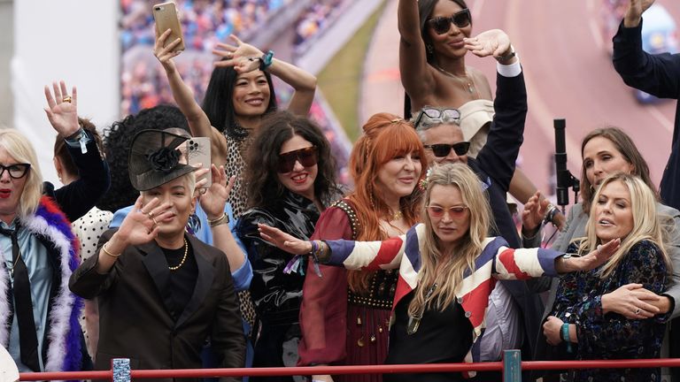
<svg viewBox="0 0 680 382">
<path fill-rule="evenodd" d="M 236 45 L 219 43 L 220 50 L 213 50 L 222 59 L 215 63 L 201 108 L 174 65 L 173 57 L 182 53 L 174 48 L 181 40 L 167 42 L 169 34 L 168 29 L 158 36 L 154 55 L 166 71 L 174 101 L 189 120 L 191 134 L 210 137 L 213 164 L 225 165 L 228 176 L 236 176 L 228 202 L 238 218 L 247 200 L 242 176 L 244 153 L 252 134 L 259 131 L 262 117 L 277 108 L 272 75 L 295 89 L 288 111 L 298 116 L 306 116 L 312 105 L 316 78 L 274 58 L 271 50 L 263 53 L 232 35 Z"/>
</svg>

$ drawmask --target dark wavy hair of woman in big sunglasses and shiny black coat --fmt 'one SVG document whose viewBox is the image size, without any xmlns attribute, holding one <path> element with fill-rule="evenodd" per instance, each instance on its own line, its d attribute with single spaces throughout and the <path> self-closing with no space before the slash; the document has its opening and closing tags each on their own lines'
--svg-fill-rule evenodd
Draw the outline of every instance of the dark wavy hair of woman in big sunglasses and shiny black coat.
<svg viewBox="0 0 680 382">
<path fill-rule="evenodd" d="M 323 206 L 339 195 L 336 186 L 336 160 L 330 154 L 330 143 L 311 120 L 289 111 L 267 114 L 249 149 L 246 182 L 249 207 L 267 207 L 284 195 L 286 187 L 279 182 L 276 165 L 283 143 L 294 135 L 310 141 L 318 150 L 319 169 L 314 180 L 314 196 Z"/>
</svg>

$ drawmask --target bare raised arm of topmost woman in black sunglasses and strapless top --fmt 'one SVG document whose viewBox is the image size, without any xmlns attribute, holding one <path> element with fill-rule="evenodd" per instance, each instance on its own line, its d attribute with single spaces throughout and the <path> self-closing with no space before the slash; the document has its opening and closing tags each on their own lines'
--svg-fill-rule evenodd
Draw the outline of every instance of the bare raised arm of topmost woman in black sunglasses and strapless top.
<svg viewBox="0 0 680 382">
<path fill-rule="evenodd" d="M 399 73 L 406 94 L 413 99 L 431 92 L 435 87 L 435 76 L 429 70 L 425 42 L 421 37 L 421 26 L 417 0 L 399 0 L 398 28 Z"/>
</svg>

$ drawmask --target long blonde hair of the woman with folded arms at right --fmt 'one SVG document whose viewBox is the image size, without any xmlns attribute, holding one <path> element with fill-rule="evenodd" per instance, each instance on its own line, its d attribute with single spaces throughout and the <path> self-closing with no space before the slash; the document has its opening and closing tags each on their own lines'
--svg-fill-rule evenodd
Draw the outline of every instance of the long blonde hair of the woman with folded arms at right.
<svg viewBox="0 0 680 382">
<path fill-rule="evenodd" d="M 611 275 L 616 269 L 616 266 L 622 261 L 623 257 L 628 254 L 630 248 L 644 240 L 652 241 L 661 248 L 663 260 L 667 264 L 668 269 L 670 269 L 670 258 L 668 257 L 668 252 L 664 248 L 664 230 L 661 226 L 661 219 L 656 212 L 656 197 L 652 189 L 645 184 L 644 180 L 640 179 L 638 176 L 629 175 L 623 172 L 614 173 L 602 181 L 598 190 L 595 192 L 592 201 L 597 205 L 602 190 L 607 187 L 607 185 L 616 181 L 621 182 L 630 192 L 633 229 L 625 238 L 621 238 L 621 247 L 599 270 L 599 277 L 605 279 Z M 580 253 L 591 252 L 600 244 L 599 238 L 595 234 L 597 218 L 594 209 L 591 209 L 590 218 L 588 218 L 588 223 L 585 226 L 587 236 L 581 241 L 578 248 Z"/>
</svg>

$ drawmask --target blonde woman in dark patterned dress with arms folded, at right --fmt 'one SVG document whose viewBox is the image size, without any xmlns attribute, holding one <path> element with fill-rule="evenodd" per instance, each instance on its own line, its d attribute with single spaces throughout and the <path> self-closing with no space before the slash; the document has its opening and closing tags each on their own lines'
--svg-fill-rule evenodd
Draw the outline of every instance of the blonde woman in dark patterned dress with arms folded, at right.
<svg viewBox="0 0 680 382">
<path fill-rule="evenodd" d="M 638 177 L 616 173 L 603 180 L 593 197 L 586 236 L 568 247 L 585 254 L 622 238 L 606 264 L 563 276 L 553 311 L 544 325 L 549 344 L 576 353 L 577 359 L 657 358 L 668 315 L 628 319 L 607 307 L 604 294 L 638 284 L 661 294 L 669 282 L 670 259 L 664 249 L 652 190 Z M 612 312 L 612 314 L 609 314 Z M 575 371 L 575 381 L 661 380 L 661 369 Z"/>
</svg>

